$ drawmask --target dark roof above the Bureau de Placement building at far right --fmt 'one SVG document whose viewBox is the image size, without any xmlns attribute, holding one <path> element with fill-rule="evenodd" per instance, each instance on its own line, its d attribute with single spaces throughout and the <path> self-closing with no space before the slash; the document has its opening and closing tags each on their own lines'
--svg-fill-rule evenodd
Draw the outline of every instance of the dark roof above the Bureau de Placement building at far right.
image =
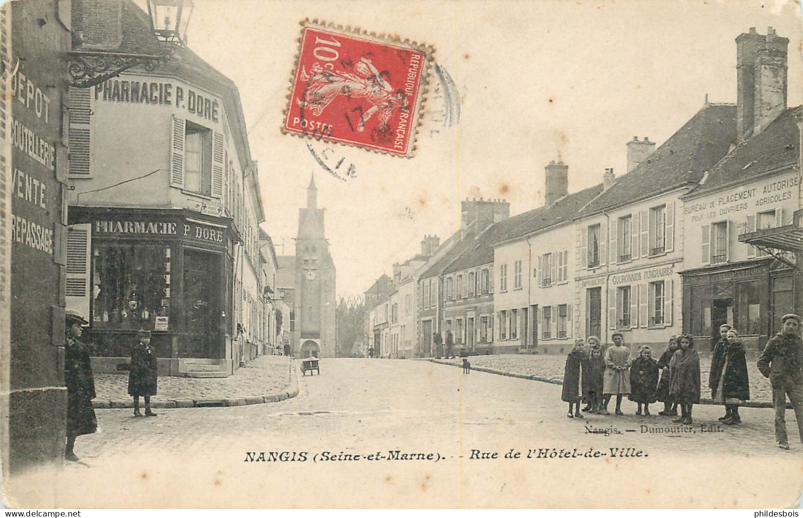
<svg viewBox="0 0 803 518">
<path fill-rule="evenodd" d="M 692 196 L 711 192 L 725 185 L 747 181 L 751 176 L 772 171 L 800 160 L 801 136 L 795 121 L 803 107 L 793 107 L 778 115 L 763 132 L 744 140 L 711 169 L 705 182 Z"/>
</svg>

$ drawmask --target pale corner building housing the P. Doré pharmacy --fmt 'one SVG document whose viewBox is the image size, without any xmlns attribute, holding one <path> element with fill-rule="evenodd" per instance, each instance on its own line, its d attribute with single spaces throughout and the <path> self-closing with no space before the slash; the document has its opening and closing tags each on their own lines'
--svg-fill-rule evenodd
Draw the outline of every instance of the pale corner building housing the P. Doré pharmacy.
<svg viewBox="0 0 803 518">
<path fill-rule="evenodd" d="M 72 29 L 82 51 L 157 54 L 128 0 L 74 1 Z M 66 298 L 100 371 L 141 328 L 161 374 L 230 374 L 264 339 L 264 216 L 237 87 L 175 45 L 153 71 L 70 92 Z"/>
</svg>

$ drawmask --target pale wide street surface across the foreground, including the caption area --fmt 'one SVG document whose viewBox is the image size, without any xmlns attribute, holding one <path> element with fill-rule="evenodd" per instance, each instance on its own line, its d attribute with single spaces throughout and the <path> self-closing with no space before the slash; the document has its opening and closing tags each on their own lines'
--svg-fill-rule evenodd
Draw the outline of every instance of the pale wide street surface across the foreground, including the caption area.
<svg viewBox="0 0 803 518">
<path fill-rule="evenodd" d="M 721 407 L 695 407 L 695 424 L 678 428 L 633 415 L 629 402 L 622 417 L 567 419 L 559 385 L 400 360 L 324 359 L 299 386 L 279 403 L 164 409 L 153 419 L 97 410 L 101 430 L 75 445 L 80 462 L 16 480 L 13 494 L 39 508 L 615 507 L 639 492 L 644 507 L 767 507 L 799 495 L 803 446 L 790 416 L 793 449 L 777 448 L 769 409 L 744 409 L 739 427 L 715 424 Z M 260 452 L 287 453 L 249 461 Z M 751 472 L 760 490 L 711 494 L 733 470 Z M 699 471 L 707 484 L 650 494 Z M 567 485 L 589 479 L 605 492 L 562 500 Z"/>
</svg>

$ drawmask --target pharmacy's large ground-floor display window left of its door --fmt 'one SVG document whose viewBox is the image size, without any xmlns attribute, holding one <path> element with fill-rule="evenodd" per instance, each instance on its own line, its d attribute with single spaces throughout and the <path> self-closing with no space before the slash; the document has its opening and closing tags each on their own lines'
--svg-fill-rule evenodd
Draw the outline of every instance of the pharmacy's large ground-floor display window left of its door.
<svg viewBox="0 0 803 518">
<path fill-rule="evenodd" d="M 92 282 L 92 326 L 153 330 L 170 316 L 170 247 L 159 244 L 96 245 Z"/>
</svg>

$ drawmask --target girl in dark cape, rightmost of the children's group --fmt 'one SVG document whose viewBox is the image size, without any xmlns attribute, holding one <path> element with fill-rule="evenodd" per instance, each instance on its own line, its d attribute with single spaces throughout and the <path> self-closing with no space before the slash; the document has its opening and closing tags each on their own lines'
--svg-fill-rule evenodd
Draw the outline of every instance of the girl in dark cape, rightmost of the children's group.
<svg viewBox="0 0 803 518">
<path fill-rule="evenodd" d="M 742 422 L 739 405 L 744 405 L 750 399 L 748 363 L 744 357 L 744 344 L 739 338 L 739 332 L 730 329 L 727 338 L 722 362 L 716 370 L 711 362 L 708 386 L 711 387 L 711 399 L 725 405 L 725 415 L 719 420 L 725 424 L 739 424 Z"/>
</svg>

